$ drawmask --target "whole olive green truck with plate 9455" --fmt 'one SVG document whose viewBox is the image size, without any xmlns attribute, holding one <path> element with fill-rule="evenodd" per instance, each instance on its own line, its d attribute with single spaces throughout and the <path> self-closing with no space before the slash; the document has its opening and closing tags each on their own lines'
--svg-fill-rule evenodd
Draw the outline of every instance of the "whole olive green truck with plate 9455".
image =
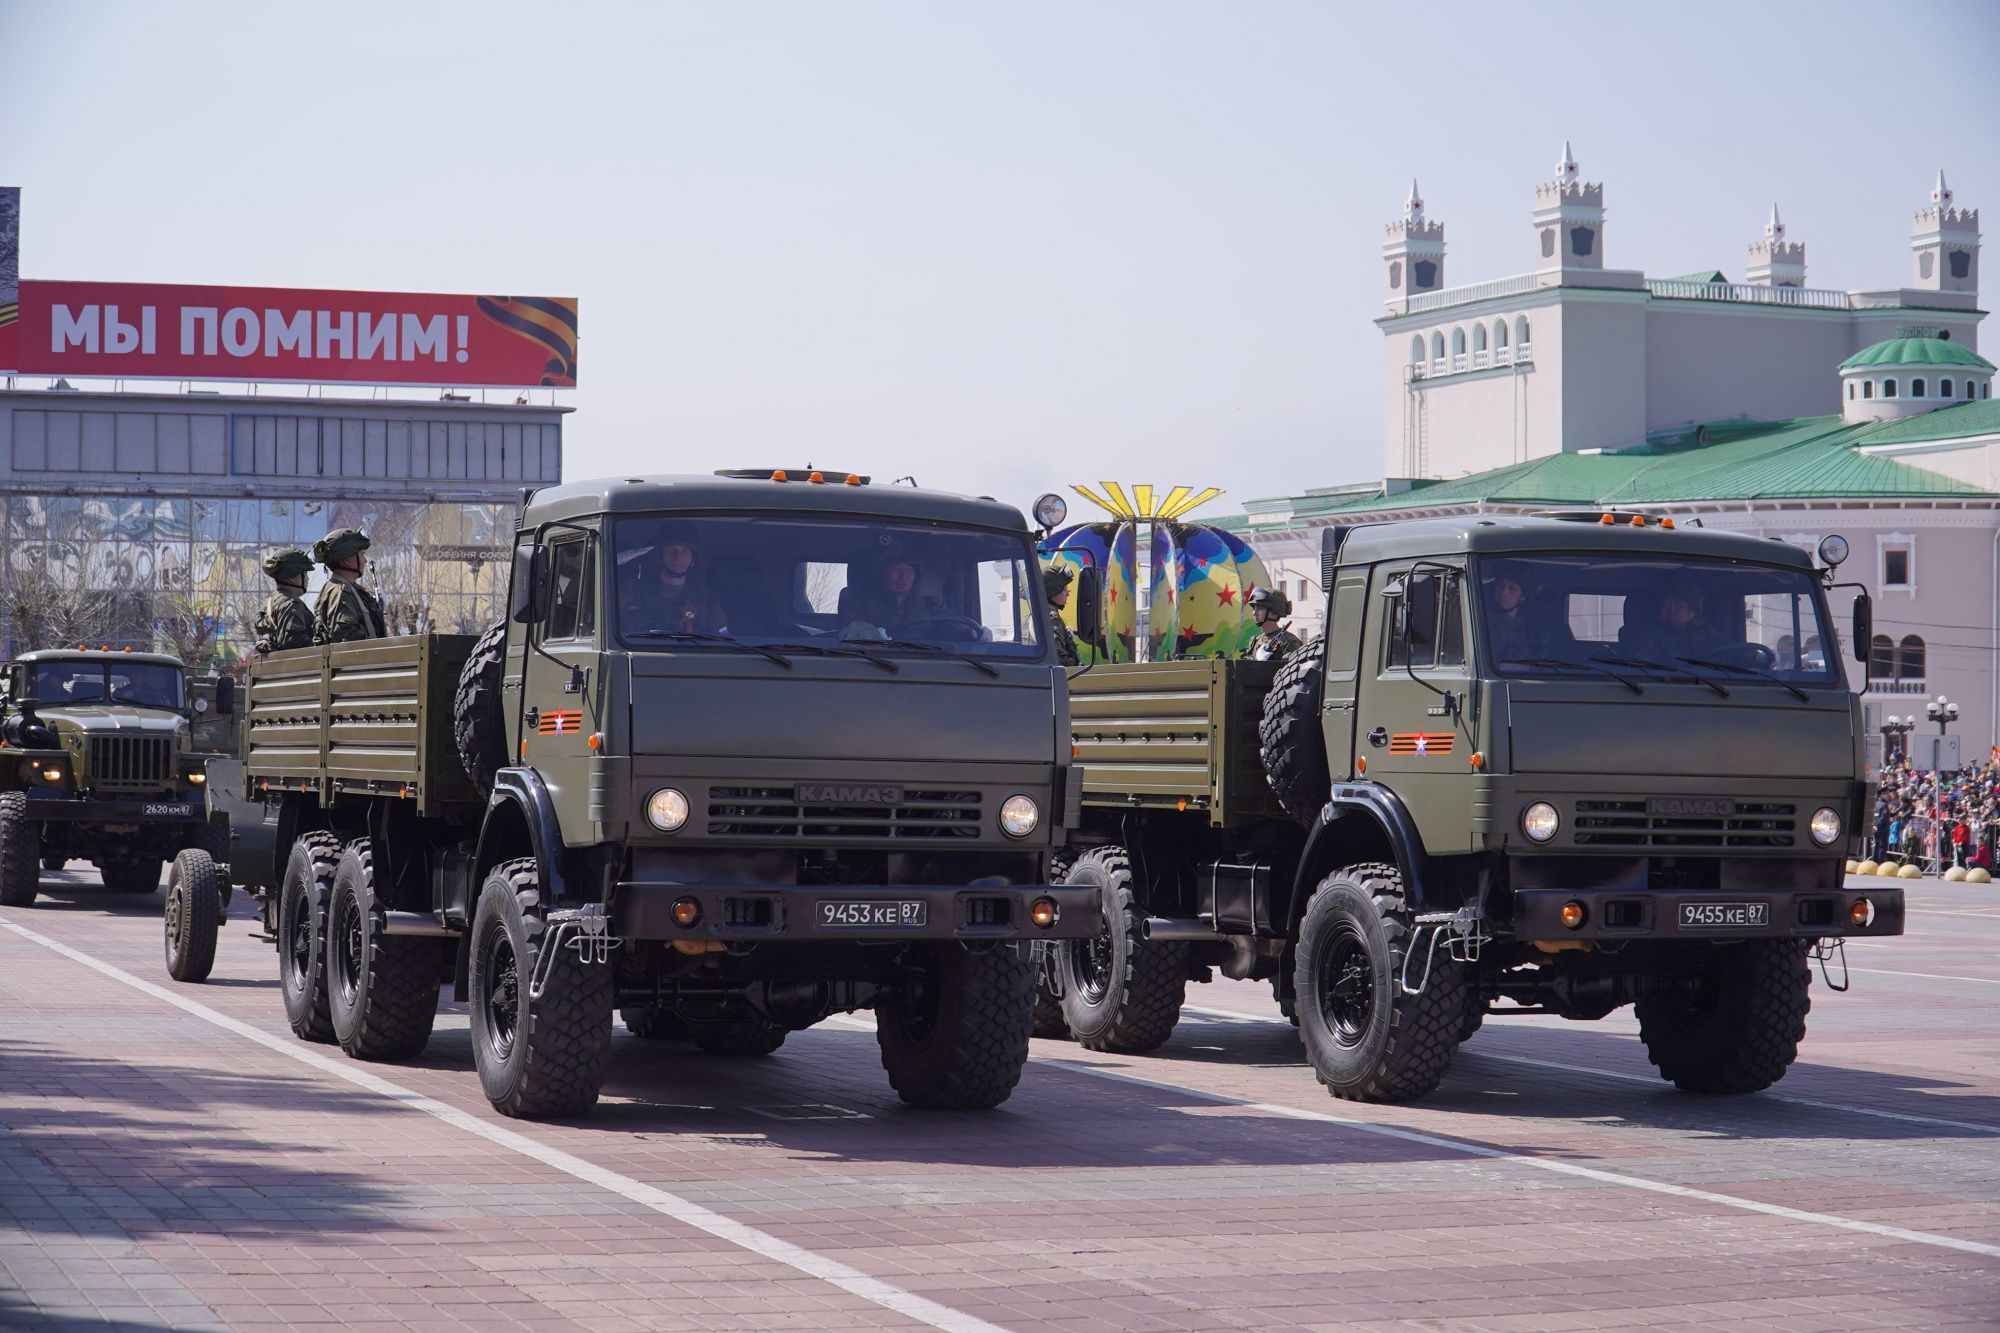
<svg viewBox="0 0 2000 1333">
<path fill-rule="evenodd" d="M 1904 919 L 1842 887 L 1872 791 L 1832 578 L 1636 514 L 1332 528 L 1330 632 L 1284 666 L 1074 675 L 1066 883 L 1106 925 L 1042 951 L 1036 1031 L 1158 1047 L 1218 969 L 1336 1097 L 1422 1097 L 1488 1013 L 1620 1005 L 1682 1089 L 1768 1087 L 1812 959 Z"/>
</svg>

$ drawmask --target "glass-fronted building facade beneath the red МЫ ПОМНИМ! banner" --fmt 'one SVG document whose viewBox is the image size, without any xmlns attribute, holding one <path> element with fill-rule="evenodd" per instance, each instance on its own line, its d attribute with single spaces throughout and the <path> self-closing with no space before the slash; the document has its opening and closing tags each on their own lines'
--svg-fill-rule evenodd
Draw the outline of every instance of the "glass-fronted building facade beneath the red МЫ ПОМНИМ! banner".
<svg viewBox="0 0 2000 1333">
<path fill-rule="evenodd" d="M 562 478 L 548 404 L 0 390 L 0 634 L 228 660 L 276 546 L 370 534 L 392 630 L 496 614 L 522 490 Z M 314 570 L 314 590 L 324 574 Z"/>
</svg>

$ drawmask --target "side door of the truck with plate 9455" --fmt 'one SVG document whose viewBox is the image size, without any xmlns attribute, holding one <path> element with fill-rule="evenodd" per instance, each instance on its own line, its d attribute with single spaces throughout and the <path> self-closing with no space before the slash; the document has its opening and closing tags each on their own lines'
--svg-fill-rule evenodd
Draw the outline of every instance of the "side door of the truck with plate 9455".
<svg viewBox="0 0 2000 1333">
<path fill-rule="evenodd" d="M 1464 562 L 1378 564 L 1356 733 L 1366 777 L 1396 793 L 1432 853 L 1472 847 Z"/>
</svg>

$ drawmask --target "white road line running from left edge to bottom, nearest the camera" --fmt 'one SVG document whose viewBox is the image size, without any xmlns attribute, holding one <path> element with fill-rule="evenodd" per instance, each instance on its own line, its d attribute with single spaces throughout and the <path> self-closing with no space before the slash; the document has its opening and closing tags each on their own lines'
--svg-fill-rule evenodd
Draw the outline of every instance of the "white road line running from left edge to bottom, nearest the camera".
<svg viewBox="0 0 2000 1333">
<path fill-rule="evenodd" d="M 316 1051 L 308 1051 L 296 1045 L 294 1041 L 272 1037 L 262 1029 L 250 1027 L 248 1023 L 240 1023 L 228 1015 L 216 1013 L 214 1009 L 198 1005 L 184 995 L 176 995 L 166 987 L 158 987 L 150 981 L 134 977 L 124 969 L 112 967 L 110 963 L 92 959 L 88 953 L 70 949 L 68 945 L 52 941 L 46 935 L 36 935 L 26 927 L 14 925 L 12 921 L 0 921 L 0 925 L 4 925 L 8 931 L 14 931 L 22 939 L 34 941 L 44 949 L 60 953 L 72 963 L 82 963 L 84 967 L 94 969 L 110 977 L 112 981 L 124 983 L 134 991 L 142 991 L 144 995 L 150 995 L 154 999 L 162 999 L 168 1005 L 174 1005 L 176 1009 L 192 1013 L 196 1019 L 202 1019 L 204 1023 L 212 1023 L 246 1041 L 254 1041 L 256 1045 L 276 1051 L 278 1055 L 284 1055 L 288 1059 L 294 1059 L 300 1065 L 310 1065 L 320 1073 L 334 1075 L 336 1079 L 346 1079 L 356 1087 L 364 1087 L 370 1093 L 376 1093 L 394 1103 L 410 1107 L 412 1111 L 422 1111 L 424 1115 L 432 1115 L 444 1121 L 446 1125 L 452 1125 L 454 1129 L 464 1129 L 466 1133 L 478 1135 L 488 1143 L 494 1143 L 512 1153 L 520 1153 L 522 1157 L 538 1161 L 544 1167 L 554 1167 L 556 1171 L 572 1175 L 578 1181 L 586 1181 L 590 1185 L 596 1185 L 598 1189 L 606 1189 L 614 1195 L 630 1199 L 632 1203 L 644 1205 L 654 1213 L 662 1213 L 678 1223 L 686 1223 L 698 1231 L 706 1231 L 708 1235 L 720 1241 L 728 1241 L 730 1245 L 748 1249 L 754 1255 L 772 1259 L 774 1263 L 782 1263 L 790 1269 L 798 1269 L 808 1277 L 818 1277 L 828 1285 L 840 1287 L 848 1295 L 872 1301 L 884 1309 L 904 1315 L 906 1319 L 930 1325 L 932 1329 L 948 1329 L 950 1333 L 1002 1333 L 1000 1325 L 992 1325 L 986 1323 L 984 1319 L 960 1313 L 950 1305 L 938 1305 L 936 1301 L 904 1291 L 902 1287 L 894 1287 L 878 1277 L 868 1277 L 860 1269 L 852 1269 L 840 1263 L 838 1259 L 828 1259 L 826 1255 L 816 1255 L 814 1251 L 792 1245 L 790 1241 L 780 1241 L 768 1231 L 746 1227 L 740 1221 L 724 1217 L 722 1213 L 704 1209 L 700 1203 L 682 1199 L 680 1195 L 658 1189 L 656 1185 L 634 1181 L 628 1175 L 606 1171 L 604 1167 L 588 1163 L 582 1157 L 572 1157 L 562 1149 L 548 1147 L 546 1143 L 536 1143 L 534 1139 L 518 1131 L 502 1129 L 500 1125 L 488 1125 L 486 1121 L 478 1119 L 476 1115 L 468 1115 L 458 1107 L 450 1107 L 432 1097 L 424 1097 L 422 1093 L 412 1093 L 410 1089 L 390 1083 L 388 1079 L 366 1073 L 360 1065 L 352 1061 L 328 1059 L 324 1055 L 318 1055 Z"/>
</svg>

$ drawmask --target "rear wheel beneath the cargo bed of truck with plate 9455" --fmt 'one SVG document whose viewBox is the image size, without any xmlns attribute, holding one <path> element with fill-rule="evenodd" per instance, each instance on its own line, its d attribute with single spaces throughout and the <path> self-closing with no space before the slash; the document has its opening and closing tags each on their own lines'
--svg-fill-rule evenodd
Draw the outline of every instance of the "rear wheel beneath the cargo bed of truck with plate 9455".
<svg viewBox="0 0 2000 1333">
<path fill-rule="evenodd" d="M 1070 867 L 1070 887 L 1098 891 L 1104 925 L 1094 939 L 1056 945 L 1062 1021 L 1086 1051 L 1142 1055 L 1166 1043 L 1188 999 L 1188 945 L 1146 939 L 1146 909 L 1132 897 L 1132 859 L 1098 847 Z"/>
</svg>

